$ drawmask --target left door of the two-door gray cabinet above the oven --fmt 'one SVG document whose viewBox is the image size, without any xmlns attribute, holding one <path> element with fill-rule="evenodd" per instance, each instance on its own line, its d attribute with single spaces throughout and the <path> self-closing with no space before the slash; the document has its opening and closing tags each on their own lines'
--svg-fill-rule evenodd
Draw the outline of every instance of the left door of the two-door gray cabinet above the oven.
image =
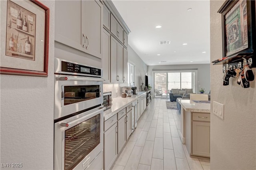
<svg viewBox="0 0 256 170">
<path fill-rule="evenodd" d="M 54 40 L 70 47 L 84 50 L 81 45 L 81 39 L 81 1 L 56 1 Z"/>
</svg>

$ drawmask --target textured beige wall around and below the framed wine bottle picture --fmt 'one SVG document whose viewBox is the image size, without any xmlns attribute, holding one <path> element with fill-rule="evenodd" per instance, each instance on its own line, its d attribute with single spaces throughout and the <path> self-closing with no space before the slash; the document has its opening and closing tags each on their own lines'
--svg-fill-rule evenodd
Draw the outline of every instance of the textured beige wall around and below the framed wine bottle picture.
<svg viewBox="0 0 256 170">
<path fill-rule="evenodd" d="M 0 75 L 1 160 L 22 163 L 24 169 L 53 169 L 54 151 L 54 1 L 40 1 L 50 8 L 48 77 Z M 1 6 L 1 51 L 6 18 Z M 4 46 L 4 47 L 3 47 Z M 2 53 L 2 52 L 1 52 Z M 1 165 L 2 165 L 1 164 Z M 1 167 L 1 169 L 6 169 Z"/>
</svg>

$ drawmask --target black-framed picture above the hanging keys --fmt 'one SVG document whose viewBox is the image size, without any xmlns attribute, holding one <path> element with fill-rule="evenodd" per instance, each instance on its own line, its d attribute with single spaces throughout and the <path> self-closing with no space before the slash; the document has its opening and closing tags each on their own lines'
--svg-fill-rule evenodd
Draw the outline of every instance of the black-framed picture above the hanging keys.
<svg viewBox="0 0 256 170">
<path fill-rule="evenodd" d="M 222 14 L 222 55 L 225 58 L 254 52 L 255 1 L 226 0 L 218 10 Z"/>
</svg>

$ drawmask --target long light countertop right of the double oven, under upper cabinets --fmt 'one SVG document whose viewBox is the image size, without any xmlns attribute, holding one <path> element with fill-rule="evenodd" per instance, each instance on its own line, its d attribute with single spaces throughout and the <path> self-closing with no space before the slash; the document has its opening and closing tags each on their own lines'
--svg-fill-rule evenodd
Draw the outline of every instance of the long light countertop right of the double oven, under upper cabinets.
<svg viewBox="0 0 256 170">
<path fill-rule="evenodd" d="M 138 99 L 140 96 L 144 95 L 146 91 L 139 91 L 137 95 L 132 95 L 132 97 L 116 97 L 112 99 L 112 107 L 104 111 L 104 121 L 108 120 L 110 117 L 116 115 L 119 111 L 130 105 L 133 101 Z"/>
</svg>

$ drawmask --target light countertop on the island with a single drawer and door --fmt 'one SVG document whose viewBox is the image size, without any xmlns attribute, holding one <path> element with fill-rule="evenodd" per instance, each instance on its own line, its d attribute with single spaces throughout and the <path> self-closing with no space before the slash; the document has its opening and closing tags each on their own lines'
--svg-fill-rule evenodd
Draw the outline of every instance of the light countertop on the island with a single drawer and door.
<svg viewBox="0 0 256 170">
<path fill-rule="evenodd" d="M 211 112 L 210 103 L 194 103 L 193 101 L 182 100 L 182 99 L 179 99 L 178 102 L 180 103 L 181 107 L 184 108 L 185 111 L 204 112 L 204 113 Z"/>
</svg>

